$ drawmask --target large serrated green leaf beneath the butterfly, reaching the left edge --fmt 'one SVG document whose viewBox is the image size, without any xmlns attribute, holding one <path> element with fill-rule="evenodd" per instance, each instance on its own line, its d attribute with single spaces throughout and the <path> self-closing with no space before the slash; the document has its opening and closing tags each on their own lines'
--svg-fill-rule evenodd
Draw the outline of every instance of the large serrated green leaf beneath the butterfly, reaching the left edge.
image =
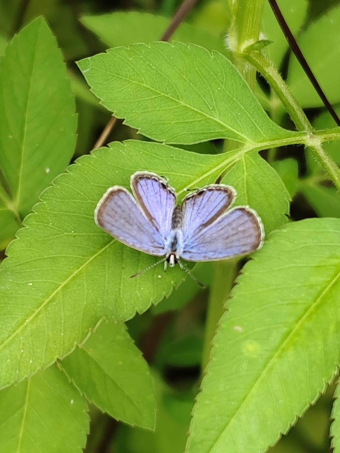
<svg viewBox="0 0 340 453">
<path fill-rule="evenodd" d="M 144 312 L 185 278 L 177 267 L 165 273 L 156 267 L 130 279 L 156 259 L 123 246 L 95 225 L 94 209 L 108 187 L 129 187 L 132 173 L 149 170 L 168 177 L 182 198 L 185 188 L 214 183 L 244 154 L 195 154 L 131 140 L 83 156 L 55 179 L 35 213 L 26 217 L 0 270 L 0 385 L 64 357 L 103 316 L 127 320 Z M 251 181 L 255 192 L 262 182 Z M 287 196 L 281 187 L 277 204 L 270 202 L 271 218 L 278 223 L 285 209 L 282 196 Z"/>
</svg>

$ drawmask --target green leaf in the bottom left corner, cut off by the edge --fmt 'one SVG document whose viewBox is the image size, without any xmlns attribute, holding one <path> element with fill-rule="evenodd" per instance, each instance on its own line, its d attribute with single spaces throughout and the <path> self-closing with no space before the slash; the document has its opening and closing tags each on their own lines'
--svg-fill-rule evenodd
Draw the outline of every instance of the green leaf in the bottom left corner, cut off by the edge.
<svg viewBox="0 0 340 453">
<path fill-rule="evenodd" d="M 52 366 L 0 393 L 2 452 L 80 453 L 89 431 L 85 400 Z"/>
</svg>

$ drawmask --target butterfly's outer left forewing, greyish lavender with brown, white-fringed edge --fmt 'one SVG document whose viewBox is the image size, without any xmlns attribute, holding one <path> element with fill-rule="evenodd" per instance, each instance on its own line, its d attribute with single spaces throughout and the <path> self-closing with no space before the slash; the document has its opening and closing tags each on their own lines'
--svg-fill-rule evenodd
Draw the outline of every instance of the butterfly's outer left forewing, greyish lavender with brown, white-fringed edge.
<svg viewBox="0 0 340 453">
<path fill-rule="evenodd" d="M 131 193 L 123 187 L 107 189 L 97 204 L 94 220 L 126 246 L 149 255 L 165 255 L 160 231 L 146 219 Z"/>
</svg>

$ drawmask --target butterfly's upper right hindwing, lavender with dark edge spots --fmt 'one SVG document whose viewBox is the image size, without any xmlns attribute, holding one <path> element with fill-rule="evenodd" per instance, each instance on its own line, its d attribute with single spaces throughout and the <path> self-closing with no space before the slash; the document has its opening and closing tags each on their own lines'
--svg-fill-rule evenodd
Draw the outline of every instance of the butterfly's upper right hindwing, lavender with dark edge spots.
<svg viewBox="0 0 340 453">
<path fill-rule="evenodd" d="M 235 196 L 235 189 L 223 184 L 211 184 L 187 195 L 182 202 L 183 241 L 222 216 Z"/>
</svg>

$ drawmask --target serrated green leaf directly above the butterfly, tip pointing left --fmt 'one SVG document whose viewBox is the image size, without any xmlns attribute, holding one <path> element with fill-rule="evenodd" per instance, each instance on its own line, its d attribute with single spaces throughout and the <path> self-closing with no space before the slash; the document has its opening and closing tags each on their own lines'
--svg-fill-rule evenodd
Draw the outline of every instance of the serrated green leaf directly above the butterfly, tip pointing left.
<svg viewBox="0 0 340 453">
<path fill-rule="evenodd" d="M 227 58 L 195 45 L 135 44 L 78 66 L 114 116 L 154 140 L 254 144 L 296 135 L 268 118 Z"/>
</svg>

